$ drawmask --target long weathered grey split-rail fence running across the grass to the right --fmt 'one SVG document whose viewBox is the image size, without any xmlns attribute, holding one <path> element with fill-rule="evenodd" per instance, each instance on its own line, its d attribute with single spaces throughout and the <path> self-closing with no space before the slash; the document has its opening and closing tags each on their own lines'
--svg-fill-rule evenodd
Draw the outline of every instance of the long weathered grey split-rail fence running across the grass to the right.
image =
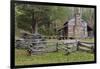
<svg viewBox="0 0 100 69">
<path fill-rule="evenodd" d="M 58 40 L 58 41 L 40 41 L 39 43 L 44 43 L 43 49 L 35 49 L 33 47 L 28 47 L 29 53 L 36 53 L 36 54 L 41 54 L 41 53 L 48 53 L 48 52 L 57 52 L 59 50 L 63 50 L 65 54 L 75 52 L 78 50 L 81 51 L 86 51 L 86 52 L 94 52 L 94 43 L 93 42 L 81 42 L 79 40 Z M 36 42 L 32 42 L 36 43 Z M 25 47 L 32 43 L 26 43 L 25 42 Z M 38 46 L 38 48 L 41 48 Z M 30 52 L 31 51 L 31 52 Z"/>
</svg>

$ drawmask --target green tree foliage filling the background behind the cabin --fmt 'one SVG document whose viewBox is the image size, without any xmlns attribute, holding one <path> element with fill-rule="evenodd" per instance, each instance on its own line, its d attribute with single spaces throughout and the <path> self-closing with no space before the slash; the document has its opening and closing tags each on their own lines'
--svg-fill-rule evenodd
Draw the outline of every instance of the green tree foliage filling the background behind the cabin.
<svg viewBox="0 0 100 69">
<path fill-rule="evenodd" d="M 74 16 L 72 15 L 72 13 L 74 14 L 73 9 L 74 7 L 16 4 L 16 32 L 18 32 L 20 28 L 31 33 L 32 24 L 37 23 L 39 33 L 46 36 L 56 35 L 57 30 Z M 82 12 L 82 18 L 89 21 L 90 15 L 90 10 L 85 8 L 85 11 Z"/>
</svg>

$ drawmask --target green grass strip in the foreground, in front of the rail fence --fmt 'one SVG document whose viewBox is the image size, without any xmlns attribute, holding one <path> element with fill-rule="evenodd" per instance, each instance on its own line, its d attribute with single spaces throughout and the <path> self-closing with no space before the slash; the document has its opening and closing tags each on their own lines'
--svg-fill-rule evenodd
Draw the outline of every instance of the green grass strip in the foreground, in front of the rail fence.
<svg viewBox="0 0 100 69">
<path fill-rule="evenodd" d="M 15 65 L 84 62 L 93 60 L 94 54 L 80 51 L 71 53 L 69 55 L 64 55 L 63 51 L 59 51 L 45 53 L 42 55 L 28 56 L 25 49 L 15 49 Z"/>
</svg>

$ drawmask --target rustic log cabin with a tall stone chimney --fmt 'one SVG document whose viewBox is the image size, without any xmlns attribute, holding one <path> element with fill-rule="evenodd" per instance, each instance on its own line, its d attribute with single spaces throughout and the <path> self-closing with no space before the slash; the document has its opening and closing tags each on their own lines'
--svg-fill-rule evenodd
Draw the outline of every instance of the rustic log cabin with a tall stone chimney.
<svg viewBox="0 0 100 69">
<path fill-rule="evenodd" d="M 75 16 L 63 24 L 58 30 L 60 38 L 87 38 L 93 34 L 93 28 L 81 18 L 80 8 L 75 11 Z"/>
</svg>

